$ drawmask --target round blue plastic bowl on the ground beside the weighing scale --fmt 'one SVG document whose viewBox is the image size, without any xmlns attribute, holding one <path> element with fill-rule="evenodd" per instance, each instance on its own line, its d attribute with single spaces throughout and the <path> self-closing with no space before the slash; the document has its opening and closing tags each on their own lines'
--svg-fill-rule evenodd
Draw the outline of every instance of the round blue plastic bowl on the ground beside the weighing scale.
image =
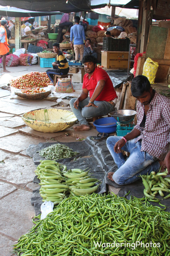
<svg viewBox="0 0 170 256">
<path fill-rule="evenodd" d="M 98 132 L 116 132 L 116 119 L 114 117 L 103 117 L 93 122 Z"/>
</svg>

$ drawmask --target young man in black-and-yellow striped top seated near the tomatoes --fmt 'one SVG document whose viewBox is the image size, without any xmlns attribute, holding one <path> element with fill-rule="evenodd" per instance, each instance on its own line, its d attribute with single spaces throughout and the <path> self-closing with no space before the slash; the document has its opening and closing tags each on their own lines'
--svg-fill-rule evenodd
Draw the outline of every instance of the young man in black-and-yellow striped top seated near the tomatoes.
<svg viewBox="0 0 170 256">
<path fill-rule="evenodd" d="M 54 43 L 52 46 L 53 51 L 57 53 L 57 62 L 53 62 L 53 69 L 47 69 L 46 72 L 49 79 L 53 83 L 54 74 L 67 75 L 69 73 L 69 63 L 66 60 L 64 53 L 60 51 L 60 44 Z"/>
</svg>

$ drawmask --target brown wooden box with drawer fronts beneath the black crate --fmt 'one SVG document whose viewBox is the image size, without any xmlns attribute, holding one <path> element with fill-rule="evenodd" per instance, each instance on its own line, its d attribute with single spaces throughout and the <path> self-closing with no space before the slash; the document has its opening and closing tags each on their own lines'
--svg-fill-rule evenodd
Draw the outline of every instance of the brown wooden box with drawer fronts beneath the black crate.
<svg viewBox="0 0 170 256">
<path fill-rule="evenodd" d="M 101 51 L 101 66 L 104 68 L 128 68 L 129 52 Z"/>
</svg>

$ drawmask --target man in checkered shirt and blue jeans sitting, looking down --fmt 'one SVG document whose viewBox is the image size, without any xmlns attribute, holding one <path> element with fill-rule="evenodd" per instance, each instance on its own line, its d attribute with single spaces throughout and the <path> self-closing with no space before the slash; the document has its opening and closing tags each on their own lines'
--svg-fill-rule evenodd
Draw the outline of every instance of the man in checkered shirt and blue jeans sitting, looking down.
<svg viewBox="0 0 170 256">
<path fill-rule="evenodd" d="M 167 168 L 170 174 L 170 100 L 152 89 L 146 76 L 132 79 L 131 93 L 137 98 L 137 124 L 124 137 L 107 138 L 116 172 L 108 179 L 119 185 L 140 179 L 140 174 Z M 125 161 L 121 149 L 130 153 Z"/>
</svg>

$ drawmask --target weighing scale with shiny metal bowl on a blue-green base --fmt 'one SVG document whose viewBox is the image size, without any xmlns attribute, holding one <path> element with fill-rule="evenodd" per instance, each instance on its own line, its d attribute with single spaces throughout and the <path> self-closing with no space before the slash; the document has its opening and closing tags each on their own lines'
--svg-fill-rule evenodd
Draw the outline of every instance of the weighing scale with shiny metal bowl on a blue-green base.
<svg viewBox="0 0 170 256">
<path fill-rule="evenodd" d="M 109 113 L 109 116 L 114 117 L 118 122 L 116 123 L 116 135 L 125 136 L 133 130 L 135 126 L 133 119 L 136 115 L 135 110 L 120 109 Z"/>
</svg>

